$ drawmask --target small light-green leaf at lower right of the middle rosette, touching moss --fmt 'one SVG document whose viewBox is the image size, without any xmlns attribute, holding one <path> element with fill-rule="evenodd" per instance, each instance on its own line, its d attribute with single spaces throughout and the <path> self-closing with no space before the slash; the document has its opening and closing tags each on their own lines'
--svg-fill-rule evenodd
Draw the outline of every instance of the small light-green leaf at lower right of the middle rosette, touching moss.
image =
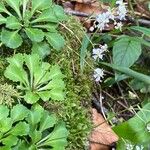
<svg viewBox="0 0 150 150">
<path fill-rule="evenodd" d="M 53 100 L 64 100 L 65 94 L 60 89 L 52 89 L 50 91 L 50 96 Z"/>
</svg>

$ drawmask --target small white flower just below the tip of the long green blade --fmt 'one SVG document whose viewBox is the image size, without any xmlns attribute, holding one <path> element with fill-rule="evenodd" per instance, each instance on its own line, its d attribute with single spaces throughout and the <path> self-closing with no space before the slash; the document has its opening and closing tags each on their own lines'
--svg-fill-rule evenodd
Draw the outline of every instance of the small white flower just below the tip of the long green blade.
<svg viewBox="0 0 150 150">
<path fill-rule="evenodd" d="M 94 70 L 94 79 L 96 82 L 102 82 L 101 78 L 104 78 L 104 70 L 100 68 L 96 68 Z"/>
</svg>

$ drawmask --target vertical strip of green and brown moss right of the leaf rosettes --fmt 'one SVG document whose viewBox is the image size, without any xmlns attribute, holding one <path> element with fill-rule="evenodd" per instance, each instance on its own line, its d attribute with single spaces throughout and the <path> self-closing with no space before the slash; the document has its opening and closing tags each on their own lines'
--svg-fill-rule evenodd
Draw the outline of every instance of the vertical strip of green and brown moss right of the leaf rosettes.
<svg viewBox="0 0 150 150">
<path fill-rule="evenodd" d="M 68 29 L 63 28 L 62 33 L 66 38 L 66 47 L 59 53 L 54 51 L 48 60 L 51 63 L 59 64 L 62 68 L 65 75 L 66 99 L 61 103 L 50 101 L 47 107 L 57 112 L 67 124 L 69 130 L 67 149 L 82 150 L 85 149 L 91 130 L 89 110 L 91 107 L 92 69 L 89 65 L 93 64 L 88 55 L 86 61 L 89 65 L 85 66 L 83 74 L 80 73 L 80 42 L 85 33 L 82 25 L 73 18 L 70 18 L 65 26 L 74 35 Z"/>
</svg>

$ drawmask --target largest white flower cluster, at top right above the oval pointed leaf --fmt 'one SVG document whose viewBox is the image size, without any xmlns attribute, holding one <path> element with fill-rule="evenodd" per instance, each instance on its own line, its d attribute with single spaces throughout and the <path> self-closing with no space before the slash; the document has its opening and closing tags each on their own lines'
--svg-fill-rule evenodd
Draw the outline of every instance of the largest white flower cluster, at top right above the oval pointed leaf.
<svg viewBox="0 0 150 150">
<path fill-rule="evenodd" d="M 121 30 L 123 26 L 121 21 L 125 20 L 127 14 L 126 3 L 124 3 L 123 0 L 117 0 L 116 5 L 116 11 L 113 11 L 110 8 L 108 8 L 106 12 L 97 15 L 94 27 L 91 27 L 89 30 L 93 31 L 94 28 L 98 28 L 102 31 L 106 27 L 109 27 L 110 21 L 114 22 L 115 29 Z M 118 19 L 120 21 L 118 21 Z"/>
</svg>

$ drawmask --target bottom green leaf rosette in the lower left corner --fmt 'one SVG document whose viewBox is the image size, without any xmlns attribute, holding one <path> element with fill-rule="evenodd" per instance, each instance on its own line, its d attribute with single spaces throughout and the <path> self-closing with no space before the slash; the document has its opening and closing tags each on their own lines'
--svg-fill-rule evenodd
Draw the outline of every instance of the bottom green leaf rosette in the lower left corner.
<svg viewBox="0 0 150 150">
<path fill-rule="evenodd" d="M 8 109 L 0 105 L 1 150 L 64 150 L 68 131 L 64 122 L 58 121 L 40 105 L 31 110 L 22 104 Z"/>
</svg>

